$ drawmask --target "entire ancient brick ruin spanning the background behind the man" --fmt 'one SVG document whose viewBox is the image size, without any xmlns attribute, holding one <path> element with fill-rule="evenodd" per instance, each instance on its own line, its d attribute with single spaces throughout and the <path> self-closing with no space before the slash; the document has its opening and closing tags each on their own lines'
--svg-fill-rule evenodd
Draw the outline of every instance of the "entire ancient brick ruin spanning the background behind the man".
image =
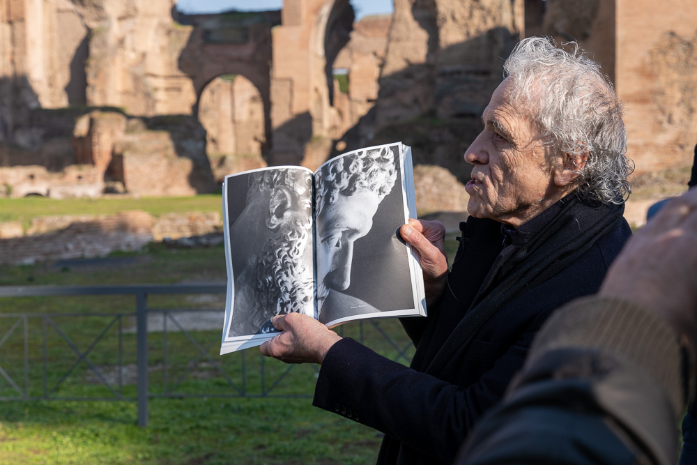
<svg viewBox="0 0 697 465">
<path fill-rule="evenodd" d="M 462 211 L 462 154 L 503 59 L 540 34 L 578 41 L 613 79 L 636 174 L 691 163 L 694 0 L 394 6 L 355 22 L 349 0 L 217 15 L 176 0 L 0 0 L 0 196 L 194 195 L 225 174 L 401 141 L 424 213 Z"/>
</svg>

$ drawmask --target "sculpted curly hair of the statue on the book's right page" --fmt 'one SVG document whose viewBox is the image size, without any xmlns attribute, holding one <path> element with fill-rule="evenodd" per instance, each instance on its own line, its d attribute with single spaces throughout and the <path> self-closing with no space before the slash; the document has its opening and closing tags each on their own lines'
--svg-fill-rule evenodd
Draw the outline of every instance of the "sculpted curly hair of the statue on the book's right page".
<svg viewBox="0 0 697 465">
<path fill-rule="evenodd" d="M 315 177 L 316 213 L 319 215 L 325 204 L 333 204 L 339 194 L 352 195 L 360 189 L 372 190 L 381 202 L 396 179 L 395 155 L 387 147 L 332 160 L 322 168 L 322 176 Z"/>
</svg>

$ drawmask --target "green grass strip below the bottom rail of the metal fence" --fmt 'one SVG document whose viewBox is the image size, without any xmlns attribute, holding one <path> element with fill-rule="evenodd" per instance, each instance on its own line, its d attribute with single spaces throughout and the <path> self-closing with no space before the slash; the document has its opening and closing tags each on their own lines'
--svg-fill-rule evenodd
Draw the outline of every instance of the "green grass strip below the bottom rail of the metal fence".
<svg viewBox="0 0 697 465">
<path fill-rule="evenodd" d="M 366 464 L 376 432 L 309 399 L 156 399 L 137 427 L 128 402 L 1 407 L 3 464 Z"/>
</svg>

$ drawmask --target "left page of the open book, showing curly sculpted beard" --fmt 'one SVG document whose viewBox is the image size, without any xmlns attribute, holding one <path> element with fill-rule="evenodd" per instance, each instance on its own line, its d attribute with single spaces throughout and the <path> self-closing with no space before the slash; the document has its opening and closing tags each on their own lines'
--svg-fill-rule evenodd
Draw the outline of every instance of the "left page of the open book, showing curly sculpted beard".
<svg viewBox="0 0 697 465">
<path fill-rule="evenodd" d="M 222 353 L 257 346 L 277 314 L 314 316 L 312 171 L 274 167 L 225 177 L 228 292 Z"/>
</svg>

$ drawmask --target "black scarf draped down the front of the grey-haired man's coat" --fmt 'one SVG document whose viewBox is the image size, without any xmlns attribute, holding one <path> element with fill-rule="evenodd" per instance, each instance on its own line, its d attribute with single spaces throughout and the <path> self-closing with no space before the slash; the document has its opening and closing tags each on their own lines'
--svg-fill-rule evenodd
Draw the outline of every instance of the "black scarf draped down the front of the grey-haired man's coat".
<svg viewBox="0 0 697 465">
<path fill-rule="evenodd" d="M 449 379 L 459 366 L 461 353 L 489 318 L 516 296 L 572 264 L 599 238 L 619 227 L 624 211 L 624 205 L 592 207 L 575 198 L 564 199 L 559 213 L 503 264 L 490 290 L 473 302 L 426 372 Z"/>
</svg>

